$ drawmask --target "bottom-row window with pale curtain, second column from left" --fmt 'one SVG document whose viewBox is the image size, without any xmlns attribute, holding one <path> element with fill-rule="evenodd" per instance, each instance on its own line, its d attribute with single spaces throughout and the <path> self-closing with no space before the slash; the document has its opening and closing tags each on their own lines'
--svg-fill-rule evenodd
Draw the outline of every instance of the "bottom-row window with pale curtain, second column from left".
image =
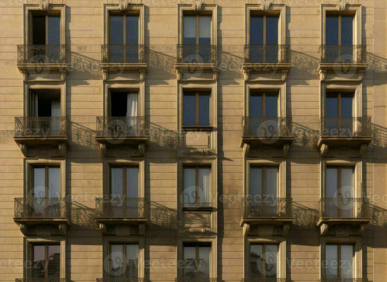
<svg viewBox="0 0 387 282">
<path fill-rule="evenodd" d="M 138 278 L 139 245 L 111 244 L 109 264 L 110 278 Z"/>
</svg>

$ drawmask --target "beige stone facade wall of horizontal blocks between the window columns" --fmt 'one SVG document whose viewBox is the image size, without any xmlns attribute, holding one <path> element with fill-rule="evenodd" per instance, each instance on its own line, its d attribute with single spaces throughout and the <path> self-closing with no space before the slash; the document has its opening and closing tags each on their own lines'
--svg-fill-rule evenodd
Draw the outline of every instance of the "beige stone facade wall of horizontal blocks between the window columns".
<svg viewBox="0 0 387 282">
<path fill-rule="evenodd" d="M 103 193 L 103 158 L 96 143 L 96 116 L 103 116 L 103 78 L 99 70 L 104 42 L 103 5 L 113 0 L 64 0 L 66 44 L 76 69 L 66 80 L 66 115 L 71 123 L 71 148 L 66 158 L 66 192 L 71 194 L 71 227 L 66 239 L 66 275 L 71 281 L 102 277 L 103 236 L 94 222 L 95 197 Z M 28 1 L 30 3 L 31 1 Z M 55 3 L 62 3 L 56 1 Z M 134 1 L 136 2 L 136 1 Z M 148 73 L 145 116 L 150 122 L 150 146 L 145 153 L 145 196 L 150 225 L 145 235 L 145 269 L 152 282 L 173 281 L 178 253 L 178 43 L 176 0 L 144 3 Z M 136 3 L 137 3 L 136 2 Z M 191 3 L 183 0 L 183 3 Z M 217 5 L 217 44 L 222 64 L 243 60 L 245 5 L 256 0 L 205 0 Z M 260 1 L 258 1 L 260 2 Z M 276 3 L 276 1 L 274 1 Z M 13 221 L 14 198 L 23 197 L 24 157 L 14 141 L 14 117 L 24 113 L 24 82 L 17 68 L 17 44 L 24 42 L 23 3 L 0 0 L 0 280 L 23 277 L 23 234 Z M 292 67 L 286 80 L 286 115 L 298 132 L 286 158 L 286 197 L 293 198 L 295 221 L 286 238 L 286 277 L 292 281 L 320 279 L 320 155 L 306 134 L 319 126 L 320 5 L 324 1 L 286 4 L 286 44 Z M 362 114 L 375 123 L 374 140 L 363 156 L 363 192 L 370 198 L 374 220 L 363 234 L 363 277 L 385 281 L 387 275 L 387 203 L 373 197 L 386 194 L 387 20 L 384 0 L 360 0 L 362 44 L 374 64 L 363 79 Z M 92 66 L 92 67 L 91 67 Z M 240 200 L 244 193 L 244 158 L 240 148 L 245 80 L 240 71 L 222 70 L 217 81 L 217 192 L 236 195 L 217 203 L 217 277 L 240 281 L 244 272 L 244 240 Z M 383 197 L 382 197 L 383 199 Z"/>
</svg>

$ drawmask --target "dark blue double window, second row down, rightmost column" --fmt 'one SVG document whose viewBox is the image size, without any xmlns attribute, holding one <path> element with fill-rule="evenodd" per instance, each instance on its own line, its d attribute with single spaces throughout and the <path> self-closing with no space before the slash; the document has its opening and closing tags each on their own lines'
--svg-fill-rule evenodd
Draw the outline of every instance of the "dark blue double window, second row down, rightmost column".
<svg viewBox="0 0 387 282">
<path fill-rule="evenodd" d="M 325 95 L 324 129 L 330 135 L 351 136 L 353 134 L 353 93 L 327 92 Z"/>
</svg>

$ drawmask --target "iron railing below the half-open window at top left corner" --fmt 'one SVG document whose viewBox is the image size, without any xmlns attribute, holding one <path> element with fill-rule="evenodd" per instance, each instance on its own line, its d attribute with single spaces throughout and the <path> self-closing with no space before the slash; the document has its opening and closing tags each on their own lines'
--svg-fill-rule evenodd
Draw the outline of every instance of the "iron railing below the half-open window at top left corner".
<svg viewBox="0 0 387 282">
<path fill-rule="evenodd" d="M 17 45 L 18 64 L 65 64 L 66 45 Z"/>
</svg>

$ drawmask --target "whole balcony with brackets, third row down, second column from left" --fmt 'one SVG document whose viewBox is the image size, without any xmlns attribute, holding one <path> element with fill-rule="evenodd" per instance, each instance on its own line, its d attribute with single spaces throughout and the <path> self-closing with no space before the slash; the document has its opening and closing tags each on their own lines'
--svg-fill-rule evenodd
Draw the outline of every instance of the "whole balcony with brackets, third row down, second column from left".
<svg viewBox="0 0 387 282">
<path fill-rule="evenodd" d="M 145 228 L 148 225 L 148 200 L 146 198 L 97 198 L 96 223 L 106 234 L 106 224 L 139 224 Z M 104 224 L 104 226 L 101 226 Z M 140 234 L 144 230 L 140 230 Z M 142 234 L 144 235 L 144 234 Z"/>
</svg>

